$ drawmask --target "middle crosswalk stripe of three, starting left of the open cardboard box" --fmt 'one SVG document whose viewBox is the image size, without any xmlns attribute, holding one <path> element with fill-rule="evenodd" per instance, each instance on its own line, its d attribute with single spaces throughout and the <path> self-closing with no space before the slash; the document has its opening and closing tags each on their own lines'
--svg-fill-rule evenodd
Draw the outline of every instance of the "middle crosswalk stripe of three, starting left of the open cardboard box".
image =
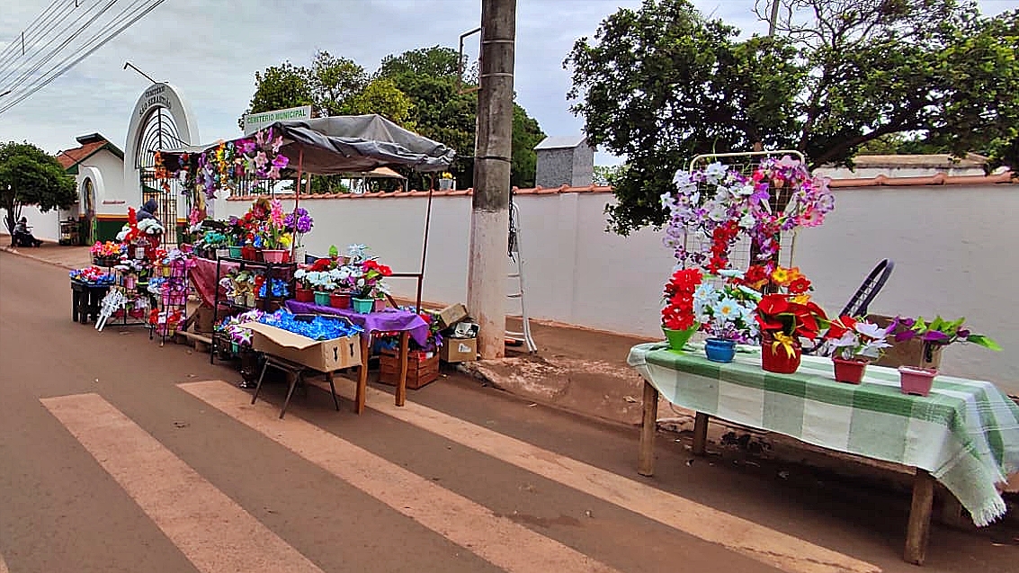
<svg viewBox="0 0 1019 573">
<path fill-rule="evenodd" d="M 511 573 L 613 572 L 555 539 L 436 485 L 266 402 L 218 380 L 178 384 L 346 483 Z M 391 399 L 391 398 L 390 398 Z"/>
</svg>

